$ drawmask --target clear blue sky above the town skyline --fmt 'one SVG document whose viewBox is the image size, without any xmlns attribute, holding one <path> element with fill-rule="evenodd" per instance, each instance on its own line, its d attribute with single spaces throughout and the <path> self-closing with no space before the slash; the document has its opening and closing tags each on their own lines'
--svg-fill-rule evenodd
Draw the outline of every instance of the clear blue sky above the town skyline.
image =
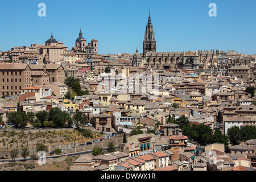
<svg viewBox="0 0 256 182">
<path fill-rule="evenodd" d="M 46 4 L 46 17 L 38 4 Z M 210 17 L 210 3 L 217 17 Z M 87 42 L 98 40 L 98 53 L 143 52 L 148 10 L 156 51 L 195 49 L 256 53 L 256 1 L 246 0 L 30 0 L 1 1 L 0 51 L 44 44 L 51 33 L 71 49 L 80 27 Z"/>
</svg>

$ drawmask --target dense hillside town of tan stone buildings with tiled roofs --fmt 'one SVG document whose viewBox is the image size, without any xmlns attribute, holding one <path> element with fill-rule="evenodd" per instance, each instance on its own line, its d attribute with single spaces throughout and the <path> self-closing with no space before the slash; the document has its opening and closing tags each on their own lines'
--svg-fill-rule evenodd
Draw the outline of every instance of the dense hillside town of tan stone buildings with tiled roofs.
<svg viewBox="0 0 256 182">
<path fill-rule="evenodd" d="M 255 55 L 157 52 L 150 15 L 142 53 L 101 55 L 100 40 L 78 33 L 70 50 L 49 35 L 42 44 L 0 51 L 1 132 L 100 136 L 44 143 L 47 162 L 77 156 L 69 171 L 256 170 Z M 3 143 L 0 163 L 23 149 Z"/>
</svg>

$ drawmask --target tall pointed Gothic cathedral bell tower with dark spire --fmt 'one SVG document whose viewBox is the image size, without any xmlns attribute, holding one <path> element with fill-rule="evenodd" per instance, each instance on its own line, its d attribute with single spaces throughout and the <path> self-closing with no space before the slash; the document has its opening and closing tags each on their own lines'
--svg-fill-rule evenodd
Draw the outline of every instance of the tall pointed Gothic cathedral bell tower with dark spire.
<svg viewBox="0 0 256 182">
<path fill-rule="evenodd" d="M 155 32 L 152 26 L 150 14 L 146 26 L 146 32 L 143 41 L 143 57 L 146 57 L 147 52 L 156 52 Z"/>
</svg>

